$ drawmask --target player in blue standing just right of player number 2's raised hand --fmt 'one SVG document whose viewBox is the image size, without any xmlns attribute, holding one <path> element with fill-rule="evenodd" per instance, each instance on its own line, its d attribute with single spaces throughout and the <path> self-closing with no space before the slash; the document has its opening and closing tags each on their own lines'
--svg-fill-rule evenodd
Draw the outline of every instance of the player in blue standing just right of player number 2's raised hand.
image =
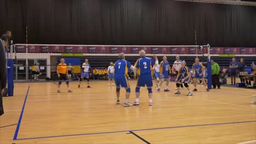
<svg viewBox="0 0 256 144">
<path fill-rule="evenodd" d="M 162 77 L 161 82 L 160 82 L 160 87 L 162 86 L 162 83 L 164 81 L 166 81 L 166 86 L 165 86 L 164 92 L 170 92 L 170 90 L 168 89 L 168 86 L 169 86 L 169 82 L 170 82 L 169 73 L 171 74 L 171 67 L 170 67 L 169 62 L 167 61 L 166 56 L 162 57 L 162 62 L 160 63 L 159 69 L 160 69 L 160 75 Z M 158 91 L 160 91 L 160 87 L 158 88 Z"/>
</svg>

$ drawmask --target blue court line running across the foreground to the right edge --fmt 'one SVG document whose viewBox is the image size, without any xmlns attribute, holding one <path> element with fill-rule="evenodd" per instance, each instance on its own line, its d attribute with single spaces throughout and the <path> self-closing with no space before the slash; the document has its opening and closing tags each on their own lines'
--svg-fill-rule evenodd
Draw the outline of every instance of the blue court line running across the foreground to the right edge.
<svg viewBox="0 0 256 144">
<path fill-rule="evenodd" d="M 111 133 L 124 133 L 124 132 L 130 132 L 130 131 L 146 131 L 146 130 L 159 130 L 159 129 L 174 129 L 174 128 L 187 128 L 187 127 L 202 127 L 202 126 L 208 126 L 208 125 L 223 125 L 223 124 L 252 123 L 252 122 L 256 122 L 256 121 L 229 122 L 229 123 L 213 123 L 213 124 L 199 124 L 199 125 L 185 125 L 185 126 L 178 126 L 178 127 L 151 128 L 151 129 L 135 129 L 135 130 L 121 130 L 121 131 L 107 131 L 107 132 L 100 132 L 100 133 L 85 133 L 85 134 L 73 134 L 73 135 L 42 136 L 42 137 L 21 138 L 21 139 L 15 139 L 15 140 L 46 139 L 46 138 L 52 138 L 52 137 L 80 136 L 80 135 L 97 135 L 97 134 L 111 134 Z"/>
</svg>

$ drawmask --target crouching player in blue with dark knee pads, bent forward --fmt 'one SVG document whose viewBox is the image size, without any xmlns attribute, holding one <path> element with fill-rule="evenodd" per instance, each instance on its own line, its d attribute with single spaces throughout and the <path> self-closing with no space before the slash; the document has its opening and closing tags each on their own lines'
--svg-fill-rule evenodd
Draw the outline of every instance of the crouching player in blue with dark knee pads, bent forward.
<svg viewBox="0 0 256 144">
<path fill-rule="evenodd" d="M 179 69 L 177 78 L 175 80 L 176 86 L 177 86 L 177 92 L 174 94 L 177 94 L 177 95 L 181 94 L 181 92 L 179 91 L 179 88 L 181 86 L 181 83 L 184 83 L 184 86 L 187 87 L 187 89 L 189 91 L 187 96 L 193 95 L 192 92 L 190 91 L 190 88 L 188 85 L 189 77 L 190 77 L 189 68 L 186 66 L 186 62 L 182 61 L 182 67 L 181 67 L 181 69 Z"/>
</svg>

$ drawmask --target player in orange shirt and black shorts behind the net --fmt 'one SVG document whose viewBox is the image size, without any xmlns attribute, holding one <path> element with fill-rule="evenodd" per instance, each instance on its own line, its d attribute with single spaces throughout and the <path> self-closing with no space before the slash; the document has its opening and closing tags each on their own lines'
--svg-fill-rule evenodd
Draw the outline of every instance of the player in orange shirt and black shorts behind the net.
<svg viewBox="0 0 256 144">
<path fill-rule="evenodd" d="M 65 59 L 61 58 L 61 63 L 57 65 L 57 75 L 59 77 L 59 85 L 58 85 L 58 93 L 60 93 L 60 85 L 62 80 L 66 81 L 67 87 L 68 87 L 68 92 L 71 93 L 72 91 L 70 90 L 69 87 L 69 81 L 67 79 L 68 76 L 68 68 L 67 64 L 65 63 Z"/>
</svg>

